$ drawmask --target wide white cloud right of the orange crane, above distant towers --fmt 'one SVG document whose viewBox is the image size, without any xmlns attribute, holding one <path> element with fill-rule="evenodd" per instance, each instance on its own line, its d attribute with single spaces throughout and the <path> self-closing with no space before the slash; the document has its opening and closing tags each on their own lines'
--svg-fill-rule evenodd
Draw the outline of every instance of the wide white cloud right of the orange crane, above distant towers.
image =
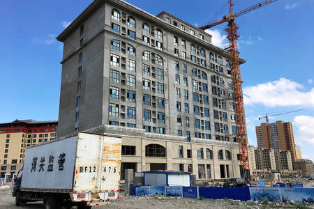
<svg viewBox="0 0 314 209">
<path fill-rule="evenodd" d="M 314 107 L 314 88 L 300 91 L 304 86 L 290 79 L 281 78 L 274 82 L 244 88 L 244 103 L 264 104 L 267 107 L 305 106 Z"/>
</svg>

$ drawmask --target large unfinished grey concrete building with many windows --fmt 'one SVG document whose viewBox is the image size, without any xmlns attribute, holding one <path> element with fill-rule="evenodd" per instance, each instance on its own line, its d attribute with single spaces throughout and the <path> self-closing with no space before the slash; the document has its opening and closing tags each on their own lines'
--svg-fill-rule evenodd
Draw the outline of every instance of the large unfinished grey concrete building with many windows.
<svg viewBox="0 0 314 209">
<path fill-rule="evenodd" d="M 149 150 L 160 146 L 171 144 L 167 156 L 174 158 L 178 148 L 202 157 L 199 149 L 208 146 L 213 159 L 226 155 L 230 164 L 214 165 L 203 154 L 193 162 L 169 160 L 166 169 L 188 171 L 192 164 L 198 178 L 239 177 L 230 54 L 212 45 L 211 35 L 166 12 L 154 16 L 125 1 L 96 0 L 57 39 L 64 44 L 58 137 L 119 127 L 136 153 L 123 157 L 123 167 L 135 171 L 165 169 L 154 167 L 165 162 L 158 156 L 147 165 Z M 207 165 L 212 175 L 203 174 Z M 230 171 L 220 173 L 225 165 Z"/>
</svg>

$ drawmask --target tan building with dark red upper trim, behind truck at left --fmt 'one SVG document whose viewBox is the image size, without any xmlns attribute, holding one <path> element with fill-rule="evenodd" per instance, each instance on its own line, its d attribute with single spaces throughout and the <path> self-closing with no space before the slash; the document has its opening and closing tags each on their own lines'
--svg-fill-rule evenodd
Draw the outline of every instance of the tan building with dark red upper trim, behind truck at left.
<svg viewBox="0 0 314 209">
<path fill-rule="evenodd" d="M 24 163 L 27 147 L 55 139 L 58 121 L 0 123 L 0 178 L 12 178 Z"/>
</svg>

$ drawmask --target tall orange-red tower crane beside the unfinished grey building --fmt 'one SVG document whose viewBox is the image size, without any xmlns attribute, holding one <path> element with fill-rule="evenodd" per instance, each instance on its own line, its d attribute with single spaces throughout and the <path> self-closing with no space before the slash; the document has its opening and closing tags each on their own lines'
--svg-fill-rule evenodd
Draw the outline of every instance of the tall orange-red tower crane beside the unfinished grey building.
<svg viewBox="0 0 314 209">
<path fill-rule="evenodd" d="M 227 22 L 227 28 L 224 30 L 227 32 L 227 39 L 229 40 L 229 50 L 231 59 L 231 72 L 232 72 L 232 86 L 234 92 L 234 106 L 236 114 L 236 124 L 237 124 L 237 137 L 239 141 L 239 153 L 240 153 L 240 164 L 241 164 L 241 176 L 248 179 L 250 176 L 250 167 L 248 164 L 248 139 L 246 136 L 246 117 L 244 113 L 244 103 L 242 94 L 242 81 L 240 73 L 239 64 L 239 52 L 238 52 L 238 29 L 239 26 L 234 22 L 236 17 L 249 13 L 257 8 L 266 6 L 277 0 L 266 0 L 257 3 L 251 7 L 239 11 L 238 13 L 233 12 L 232 0 L 229 1 L 229 15 L 218 19 L 217 22 L 210 23 L 201 26 L 200 29 L 206 30 L 223 22 Z"/>
</svg>

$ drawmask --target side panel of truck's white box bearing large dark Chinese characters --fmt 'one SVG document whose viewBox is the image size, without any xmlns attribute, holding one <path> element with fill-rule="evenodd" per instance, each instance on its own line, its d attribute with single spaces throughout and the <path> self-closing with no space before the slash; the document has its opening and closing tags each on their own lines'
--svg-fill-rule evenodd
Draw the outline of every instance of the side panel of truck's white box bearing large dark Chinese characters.
<svg viewBox="0 0 314 209">
<path fill-rule="evenodd" d="M 76 144 L 70 137 L 27 148 L 22 189 L 73 189 Z"/>
</svg>

